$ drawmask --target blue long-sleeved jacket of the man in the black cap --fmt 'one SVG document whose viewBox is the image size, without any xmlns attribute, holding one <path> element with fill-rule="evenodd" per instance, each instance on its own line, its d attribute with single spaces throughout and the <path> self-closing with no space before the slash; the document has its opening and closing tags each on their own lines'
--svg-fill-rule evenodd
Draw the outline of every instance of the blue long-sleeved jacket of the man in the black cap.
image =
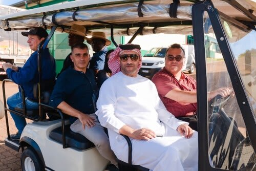
<svg viewBox="0 0 256 171">
<path fill-rule="evenodd" d="M 42 81 L 55 79 L 55 59 L 50 54 L 48 48 L 42 51 L 41 59 Z M 18 67 L 17 72 L 9 68 L 6 70 L 6 73 L 13 82 L 19 86 L 22 86 L 26 97 L 34 99 L 33 86 L 38 82 L 39 79 L 37 69 L 37 52 L 33 52 L 26 61 L 25 65 L 22 68 Z"/>
</svg>

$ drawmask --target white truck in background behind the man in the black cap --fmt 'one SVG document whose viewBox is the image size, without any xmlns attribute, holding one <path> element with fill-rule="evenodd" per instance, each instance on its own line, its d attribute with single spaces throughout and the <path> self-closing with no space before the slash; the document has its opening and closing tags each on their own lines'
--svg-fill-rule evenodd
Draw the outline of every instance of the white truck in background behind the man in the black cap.
<svg viewBox="0 0 256 171">
<path fill-rule="evenodd" d="M 0 16 L 24 11 L 24 9 L 0 5 Z M 0 75 L 6 75 L 3 63 L 10 62 L 22 67 L 29 58 L 31 50 L 27 44 L 27 37 L 19 30 L 5 31 L 0 29 Z"/>
</svg>

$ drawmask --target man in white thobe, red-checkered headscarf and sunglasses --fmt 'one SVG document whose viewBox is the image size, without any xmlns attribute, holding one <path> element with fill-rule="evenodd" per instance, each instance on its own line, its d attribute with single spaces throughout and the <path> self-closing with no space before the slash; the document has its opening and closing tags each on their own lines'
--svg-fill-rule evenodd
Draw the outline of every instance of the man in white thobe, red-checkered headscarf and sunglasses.
<svg viewBox="0 0 256 171">
<path fill-rule="evenodd" d="M 113 76 L 100 89 L 96 115 L 108 128 L 111 149 L 128 161 L 132 141 L 132 164 L 150 170 L 198 170 L 198 135 L 187 122 L 176 119 L 160 100 L 155 84 L 138 75 L 139 45 L 120 45 L 111 53 Z"/>
</svg>

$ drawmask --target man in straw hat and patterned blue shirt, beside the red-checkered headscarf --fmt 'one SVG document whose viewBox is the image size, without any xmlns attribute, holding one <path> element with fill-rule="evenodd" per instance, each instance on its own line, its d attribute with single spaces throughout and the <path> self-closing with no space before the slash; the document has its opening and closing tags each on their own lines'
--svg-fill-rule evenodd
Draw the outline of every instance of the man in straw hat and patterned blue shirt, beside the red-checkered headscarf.
<svg viewBox="0 0 256 171">
<path fill-rule="evenodd" d="M 92 45 L 93 57 L 90 61 L 90 69 L 93 69 L 95 75 L 98 73 L 99 70 L 104 69 L 105 63 L 105 55 L 108 52 L 108 48 L 111 44 L 111 41 L 106 38 L 105 33 L 103 32 L 92 32 L 92 37 L 87 40 L 88 44 Z"/>
</svg>

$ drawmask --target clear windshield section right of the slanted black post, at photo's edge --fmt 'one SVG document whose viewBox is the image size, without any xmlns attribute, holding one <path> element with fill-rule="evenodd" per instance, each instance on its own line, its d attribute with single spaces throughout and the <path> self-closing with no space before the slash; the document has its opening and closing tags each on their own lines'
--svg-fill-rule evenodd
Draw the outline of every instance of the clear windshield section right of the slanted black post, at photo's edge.
<svg viewBox="0 0 256 171">
<path fill-rule="evenodd" d="M 249 33 L 245 33 L 228 24 L 228 22 L 223 21 L 223 23 L 226 23 L 226 27 L 229 27 L 231 30 L 227 34 L 231 42 L 230 47 L 237 61 L 241 78 L 256 116 L 256 43 L 254 42 L 256 31 L 252 30 Z M 233 36 L 232 32 L 236 32 L 237 35 Z M 238 39 L 240 37 L 242 38 Z"/>
</svg>

